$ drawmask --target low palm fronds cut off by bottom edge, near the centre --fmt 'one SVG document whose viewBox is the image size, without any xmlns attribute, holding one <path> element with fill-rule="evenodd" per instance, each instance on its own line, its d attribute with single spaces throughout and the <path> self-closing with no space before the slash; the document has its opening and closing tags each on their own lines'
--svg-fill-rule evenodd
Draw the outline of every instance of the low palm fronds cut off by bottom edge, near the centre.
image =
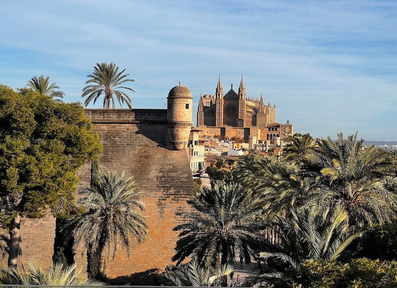
<svg viewBox="0 0 397 288">
<path fill-rule="evenodd" d="M 233 273 L 234 269 L 232 265 L 227 264 L 213 272 L 212 269 L 204 268 L 192 260 L 160 274 L 160 282 L 166 286 L 224 287 L 227 284 L 227 276 Z"/>
</svg>

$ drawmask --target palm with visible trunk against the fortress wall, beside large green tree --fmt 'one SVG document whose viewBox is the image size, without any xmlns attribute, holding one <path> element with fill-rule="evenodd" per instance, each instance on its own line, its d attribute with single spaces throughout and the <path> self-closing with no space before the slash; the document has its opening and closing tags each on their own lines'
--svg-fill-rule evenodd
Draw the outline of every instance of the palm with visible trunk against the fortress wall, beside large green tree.
<svg viewBox="0 0 397 288">
<path fill-rule="evenodd" d="M 75 224 L 75 247 L 83 242 L 85 247 L 99 251 L 98 275 L 104 275 L 111 244 L 113 258 L 119 239 L 129 256 L 131 235 L 138 243 L 148 238 L 146 219 L 133 208 L 144 211 L 145 205 L 137 199 L 140 192 L 132 177 L 125 179 L 124 172 L 99 170 L 90 187 L 82 187 L 78 192 L 78 204 L 86 207 L 86 213 Z"/>
</svg>

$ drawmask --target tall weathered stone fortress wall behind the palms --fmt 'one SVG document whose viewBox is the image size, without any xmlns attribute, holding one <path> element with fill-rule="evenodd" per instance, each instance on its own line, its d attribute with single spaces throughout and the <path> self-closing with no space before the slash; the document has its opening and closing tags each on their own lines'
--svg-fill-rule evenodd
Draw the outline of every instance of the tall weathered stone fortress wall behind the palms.
<svg viewBox="0 0 397 288">
<path fill-rule="evenodd" d="M 132 175 L 142 191 L 141 200 L 146 204 L 143 214 L 148 220 L 150 240 L 138 245 L 132 239 L 130 257 L 120 247 L 116 257 L 107 260 L 107 276 L 115 281 L 150 284 L 156 273 L 172 264 L 178 239 L 178 232 L 173 228 L 182 223 L 175 214 L 189 209 L 186 200 L 195 193 L 186 151 L 170 150 L 165 112 L 86 110 L 104 147 L 100 167 Z M 88 184 L 90 164 L 84 165 L 78 176 L 82 184 Z M 43 267 L 51 264 L 55 236 L 53 217 L 24 219 L 21 235 L 24 239 L 22 261 L 29 257 Z M 75 261 L 86 269 L 86 257 L 81 256 L 81 248 Z"/>
</svg>

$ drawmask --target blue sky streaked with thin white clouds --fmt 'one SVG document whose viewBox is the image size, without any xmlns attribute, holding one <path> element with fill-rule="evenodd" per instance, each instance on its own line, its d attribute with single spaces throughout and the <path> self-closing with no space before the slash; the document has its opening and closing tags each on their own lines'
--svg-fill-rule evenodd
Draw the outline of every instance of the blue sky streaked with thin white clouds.
<svg viewBox="0 0 397 288">
<path fill-rule="evenodd" d="M 67 102 L 97 62 L 135 80 L 133 108 L 240 83 L 314 137 L 397 141 L 396 1 L 16 0 L 0 9 L 0 83 L 49 75 Z M 90 108 L 102 108 L 99 100 Z"/>
</svg>

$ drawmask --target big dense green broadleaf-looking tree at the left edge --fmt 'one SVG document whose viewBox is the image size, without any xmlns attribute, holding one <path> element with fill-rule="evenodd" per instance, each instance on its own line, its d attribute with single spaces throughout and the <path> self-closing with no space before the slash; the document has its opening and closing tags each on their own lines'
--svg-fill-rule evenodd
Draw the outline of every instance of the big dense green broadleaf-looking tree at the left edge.
<svg viewBox="0 0 397 288">
<path fill-rule="evenodd" d="M 43 217 L 49 209 L 60 215 L 73 207 L 76 171 L 101 152 L 80 104 L 0 86 L 0 219 L 11 246 L 21 216 Z"/>
</svg>

